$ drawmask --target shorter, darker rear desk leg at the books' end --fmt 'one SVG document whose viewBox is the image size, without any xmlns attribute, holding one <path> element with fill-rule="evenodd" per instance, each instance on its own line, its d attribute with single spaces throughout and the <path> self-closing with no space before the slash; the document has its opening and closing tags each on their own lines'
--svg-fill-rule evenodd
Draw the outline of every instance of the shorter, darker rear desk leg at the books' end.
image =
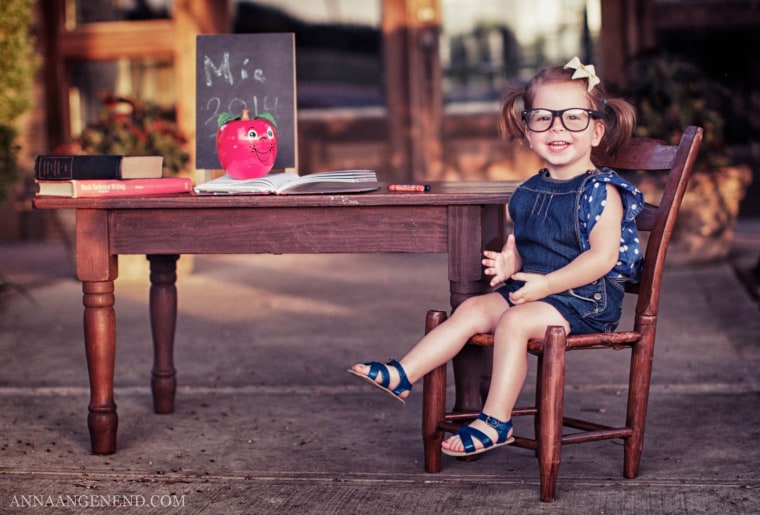
<svg viewBox="0 0 760 515">
<path fill-rule="evenodd" d="M 153 332 L 153 370 L 150 387 L 153 411 L 172 413 L 177 390 L 174 332 L 177 325 L 178 255 L 149 255 L 150 324 Z"/>
</svg>

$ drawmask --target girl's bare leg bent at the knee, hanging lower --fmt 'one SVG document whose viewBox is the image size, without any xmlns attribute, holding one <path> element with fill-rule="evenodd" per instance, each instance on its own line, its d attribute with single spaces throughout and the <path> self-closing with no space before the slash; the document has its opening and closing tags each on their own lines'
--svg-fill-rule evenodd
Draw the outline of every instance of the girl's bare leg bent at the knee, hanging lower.
<svg viewBox="0 0 760 515">
<path fill-rule="evenodd" d="M 506 422 L 512 417 L 512 409 L 520 395 L 528 371 L 527 344 L 531 338 L 542 338 L 546 327 L 560 325 L 569 331 L 567 321 L 559 312 L 545 302 L 530 302 L 514 306 L 499 319 L 494 329 L 493 370 L 488 397 L 483 413 Z M 496 442 L 496 429 L 485 422 L 475 420 L 470 424 Z M 483 444 L 474 439 L 476 449 Z M 463 451 L 464 445 L 457 435 L 442 444 L 444 449 Z"/>
</svg>

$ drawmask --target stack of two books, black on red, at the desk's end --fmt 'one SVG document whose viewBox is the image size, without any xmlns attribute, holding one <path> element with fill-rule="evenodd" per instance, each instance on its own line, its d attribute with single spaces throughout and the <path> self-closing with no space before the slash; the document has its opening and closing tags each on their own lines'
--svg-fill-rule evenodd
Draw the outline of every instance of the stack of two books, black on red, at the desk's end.
<svg viewBox="0 0 760 515">
<path fill-rule="evenodd" d="M 186 193 L 185 177 L 162 177 L 163 156 L 39 155 L 34 160 L 38 196 L 125 197 Z"/>
</svg>

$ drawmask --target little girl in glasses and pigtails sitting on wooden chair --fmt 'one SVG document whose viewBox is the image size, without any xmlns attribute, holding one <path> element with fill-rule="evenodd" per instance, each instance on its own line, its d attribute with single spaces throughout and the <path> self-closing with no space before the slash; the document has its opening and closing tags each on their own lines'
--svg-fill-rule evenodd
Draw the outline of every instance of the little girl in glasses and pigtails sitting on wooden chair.
<svg viewBox="0 0 760 515">
<path fill-rule="evenodd" d="M 443 442 L 445 454 L 479 454 L 514 441 L 510 417 L 525 381 L 530 338 L 543 337 L 549 325 L 568 334 L 617 326 L 624 283 L 639 278 L 643 256 L 634 218 L 643 199 L 614 171 L 594 166 L 591 149 L 614 152 L 635 121 L 633 107 L 606 98 L 594 67 L 577 57 L 541 70 L 504 97 L 502 134 L 524 135 L 546 168 L 512 195 L 514 232 L 504 248 L 484 252 L 491 286 L 500 286 L 467 299 L 400 361 L 349 369 L 404 402 L 414 382 L 452 359 L 472 335 L 493 332 L 483 411 Z"/>
</svg>

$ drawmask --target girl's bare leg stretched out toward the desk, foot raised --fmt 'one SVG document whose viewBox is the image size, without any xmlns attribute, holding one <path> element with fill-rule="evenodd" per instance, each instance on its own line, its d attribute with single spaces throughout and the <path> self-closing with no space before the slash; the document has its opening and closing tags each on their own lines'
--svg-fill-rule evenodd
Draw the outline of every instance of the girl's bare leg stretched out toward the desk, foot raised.
<svg viewBox="0 0 760 515">
<path fill-rule="evenodd" d="M 426 334 L 399 362 L 414 384 L 435 367 L 451 360 L 476 333 L 492 331 L 509 304 L 498 293 L 487 293 L 464 301 L 444 323 Z M 351 369 L 367 375 L 369 367 L 356 364 Z M 398 386 L 400 377 L 394 367 L 388 367 L 389 388 Z M 375 379 L 380 382 L 381 377 Z M 409 392 L 401 395 L 408 396 Z"/>
</svg>

